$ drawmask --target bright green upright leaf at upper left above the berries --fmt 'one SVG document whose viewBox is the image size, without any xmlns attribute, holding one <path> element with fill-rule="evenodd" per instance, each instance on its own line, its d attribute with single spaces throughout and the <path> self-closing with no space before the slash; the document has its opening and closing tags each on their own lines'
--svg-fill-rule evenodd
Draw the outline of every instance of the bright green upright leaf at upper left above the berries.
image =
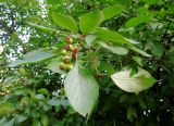
<svg viewBox="0 0 174 126">
<path fill-rule="evenodd" d="M 52 13 L 52 20 L 58 25 L 60 25 L 63 28 L 70 29 L 72 33 L 78 32 L 77 24 L 72 16 L 67 16 L 59 13 Z"/>
</svg>

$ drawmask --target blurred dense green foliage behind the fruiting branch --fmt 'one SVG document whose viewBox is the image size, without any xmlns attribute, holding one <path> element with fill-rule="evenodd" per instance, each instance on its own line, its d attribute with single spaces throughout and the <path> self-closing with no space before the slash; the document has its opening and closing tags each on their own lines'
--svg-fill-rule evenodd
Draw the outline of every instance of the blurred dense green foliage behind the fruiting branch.
<svg viewBox="0 0 174 126">
<path fill-rule="evenodd" d="M 120 55 L 103 50 L 94 55 L 98 71 L 113 73 L 124 66 L 136 71 L 141 66 L 157 79 L 148 90 L 123 91 L 109 76 L 94 71 L 100 94 L 92 114 L 86 118 L 72 109 L 64 93 L 64 76 L 49 71 L 47 60 L 8 66 L 26 52 L 59 49 L 62 41 L 59 33 L 29 23 L 69 33 L 53 22 L 52 12 L 78 21 L 87 12 L 113 4 L 123 8 L 101 26 L 138 41 L 137 47 L 153 56 L 133 51 Z M 173 35 L 173 0 L 0 0 L 0 126 L 174 125 Z"/>
</svg>

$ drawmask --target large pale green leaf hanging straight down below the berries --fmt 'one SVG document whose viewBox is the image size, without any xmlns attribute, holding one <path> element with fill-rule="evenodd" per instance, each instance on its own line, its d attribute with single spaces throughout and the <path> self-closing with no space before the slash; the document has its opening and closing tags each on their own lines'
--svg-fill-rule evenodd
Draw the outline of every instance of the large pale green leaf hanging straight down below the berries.
<svg viewBox="0 0 174 126">
<path fill-rule="evenodd" d="M 64 80 L 64 89 L 73 109 L 83 116 L 89 116 L 99 94 L 94 76 L 76 64 Z"/>
</svg>

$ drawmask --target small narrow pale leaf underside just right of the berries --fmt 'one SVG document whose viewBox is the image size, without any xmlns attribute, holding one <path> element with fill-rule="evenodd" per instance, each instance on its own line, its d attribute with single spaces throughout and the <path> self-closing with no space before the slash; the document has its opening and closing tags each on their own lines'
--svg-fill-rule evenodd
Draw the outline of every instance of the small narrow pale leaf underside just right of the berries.
<svg viewBox="0 0 174 126">
<path fill-rule="evenodd" d="M 100 42 L 100 45 L 104 49 L 108 49 L 108 50 L 110 50 L 113 53 L 119 54 L 119 55 L 126 55 L 128 53 L 128 50 L 126 48 L 123 48 L 123 47 L 109 46 L 109 45 L 107 45 L 104 42 Z"/>
</svg>

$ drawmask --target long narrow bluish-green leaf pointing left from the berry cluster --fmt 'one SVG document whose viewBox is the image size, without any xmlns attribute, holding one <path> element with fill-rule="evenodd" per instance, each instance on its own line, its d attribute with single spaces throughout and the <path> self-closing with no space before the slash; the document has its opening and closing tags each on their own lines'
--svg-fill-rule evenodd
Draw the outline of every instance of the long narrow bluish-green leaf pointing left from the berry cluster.
<svg viewBox="0 0 174 126">
<path fill-rule="evenodd" d="M 55 54 L 53 54 L 51 51 L 39 49 L 39 50 L 35 50 L 24 54 L 23 60 L 15 60 L 14 62 L 10 63 L 8 66 L 15 67 L 22 64 L 41 62 L 50 58 L 53 58 L 54 55 Z"/>
</svg>

